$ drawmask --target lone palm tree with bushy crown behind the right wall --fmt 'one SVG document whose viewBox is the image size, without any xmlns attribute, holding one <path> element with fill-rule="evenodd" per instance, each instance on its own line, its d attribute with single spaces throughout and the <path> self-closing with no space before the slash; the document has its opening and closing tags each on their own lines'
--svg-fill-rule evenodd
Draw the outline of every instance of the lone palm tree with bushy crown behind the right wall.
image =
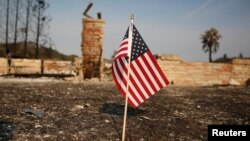
<svg viewBox="0 0 250 141">
<path fill-rule="evenodd" d="M 215 28 L 211 28 L 201 34 L 201 42 L 202 42 L 202 49 L 204 52 L 209 53 L 209 62 L 212 62 L 212 53 L 217 52 L 220 43 L 219 39 L 222 36 L 219 34 L 219 31 Z"/>
</svg>

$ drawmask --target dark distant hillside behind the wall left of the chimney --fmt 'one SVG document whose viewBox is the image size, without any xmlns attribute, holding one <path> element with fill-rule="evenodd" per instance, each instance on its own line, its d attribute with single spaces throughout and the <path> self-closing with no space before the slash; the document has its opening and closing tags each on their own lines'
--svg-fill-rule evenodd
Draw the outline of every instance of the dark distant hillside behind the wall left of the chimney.
<svg viewBox="0 0 250 141">
<path fill-rule="evenodd" d="M 14 49 L 14 44 L 9 44 L 9 50 L 12 54 L 12 58 L 35 58 L 35 43 L 28 42 L 26 57 L 24 55 L 24 43 L 17 43 L 16 49 Z M 0 57 L 6 57 L 5 54 L 5 44 L 0 43 Z M 76 55 L 65 55 L 58 52 L 52 48 L 40 47 L 39 48 L 39 59 L 54 59 L 54 60 L 68 60 L 73 61 Z"/>
</svg>

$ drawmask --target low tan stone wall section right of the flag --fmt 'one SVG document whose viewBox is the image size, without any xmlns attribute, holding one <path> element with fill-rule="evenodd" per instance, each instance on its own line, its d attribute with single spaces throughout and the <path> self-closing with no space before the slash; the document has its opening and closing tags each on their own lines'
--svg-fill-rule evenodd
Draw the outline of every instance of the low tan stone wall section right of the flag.
<svg viewBox="0 0 250 141">
<path fill-rule="evenodd" d="M 250 60 L 231 63 L 183 62 L 179 56 L 158 55 L 157 61 L 174 85 L 245 85 L 250 79 Z"/>
</svg>

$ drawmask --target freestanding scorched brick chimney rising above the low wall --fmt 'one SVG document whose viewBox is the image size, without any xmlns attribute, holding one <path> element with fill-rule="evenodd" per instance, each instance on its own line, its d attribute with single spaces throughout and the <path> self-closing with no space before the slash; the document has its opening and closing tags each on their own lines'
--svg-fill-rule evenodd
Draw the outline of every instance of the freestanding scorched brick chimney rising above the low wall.
<svg viewBox="0 0 250 141">
<path fill-rule="evenodd" d="M 82 20 L 83 78 L 102 78 L 104 20 L 83 18 Z"/>
</svg>

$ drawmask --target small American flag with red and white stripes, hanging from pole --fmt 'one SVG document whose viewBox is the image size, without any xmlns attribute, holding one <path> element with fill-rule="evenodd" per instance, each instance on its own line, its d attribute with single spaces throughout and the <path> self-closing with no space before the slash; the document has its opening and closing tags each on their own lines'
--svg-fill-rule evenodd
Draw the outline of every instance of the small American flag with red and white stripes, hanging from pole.
<svg viewBox="0 0 250 141">
<path fill-rule="evenodd" d="M 128 95 L 130 106 L 136 108 L 169 82 L 134 25 L 132 29 L 131 49 L 129 48 L 128 29 L 116 52 L 112 64 L 112 74 L 120 92 L 124 96 Z M 129 55 L 131 55 L 131 60 L 128 75 Z M 127 79 L 128 76 L 129 79 Z"/>
</svg>

